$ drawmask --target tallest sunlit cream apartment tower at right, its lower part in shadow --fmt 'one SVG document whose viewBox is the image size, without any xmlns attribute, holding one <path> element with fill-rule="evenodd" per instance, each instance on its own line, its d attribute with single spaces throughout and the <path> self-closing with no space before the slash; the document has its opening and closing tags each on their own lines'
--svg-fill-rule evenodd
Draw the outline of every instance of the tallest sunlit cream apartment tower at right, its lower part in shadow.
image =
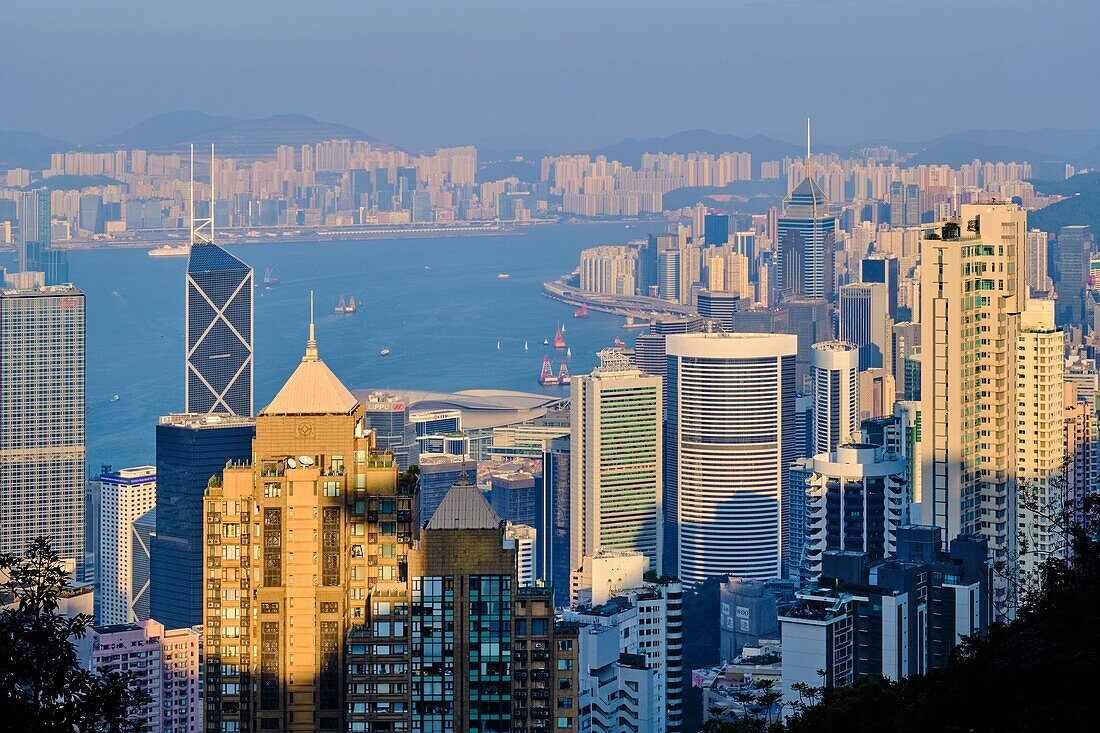
<svg viewBox="0 0 1100 733">
<path fill-rule="evenodd" d="M 965 204 L 921 251 L 921 522 L 986 537 L 994 560 L 1016 549 L 1026 226 L 1015 205 Z M 1003 584 L 997 592 L 1003 601 Z"/>
</svg>

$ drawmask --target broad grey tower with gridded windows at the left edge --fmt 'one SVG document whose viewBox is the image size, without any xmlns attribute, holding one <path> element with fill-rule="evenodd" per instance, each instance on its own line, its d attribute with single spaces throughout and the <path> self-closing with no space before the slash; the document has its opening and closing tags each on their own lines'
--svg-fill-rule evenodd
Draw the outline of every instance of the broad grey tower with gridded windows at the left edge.
<svg viewBox="0 0 1100 733">
<path fill-rule="evenodd" d="M 84 561 L 85 296 L 0 287 L 0 553 Z"/>
</svg>

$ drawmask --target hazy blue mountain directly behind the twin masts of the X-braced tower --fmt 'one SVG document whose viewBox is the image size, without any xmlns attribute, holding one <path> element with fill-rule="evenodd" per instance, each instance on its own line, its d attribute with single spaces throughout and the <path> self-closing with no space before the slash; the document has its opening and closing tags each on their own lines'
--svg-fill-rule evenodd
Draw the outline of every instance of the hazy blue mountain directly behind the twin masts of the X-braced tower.
<svg viewBox="0 0 1100 733">
<path fill-rule="evenodd" d="M 215 144 L 220 154 L 266 157 L 279 145 L 306 145 L 326 140 L 366 140 L 382 146 L 362 130 L 321 122 L 305 114 L 277 114 L 255 120 L 177 111 L 155 114 L 120 134 L 97 143 L 100 150 L 141 149 L 182 152 L 188 143 Z"/>
</svg>

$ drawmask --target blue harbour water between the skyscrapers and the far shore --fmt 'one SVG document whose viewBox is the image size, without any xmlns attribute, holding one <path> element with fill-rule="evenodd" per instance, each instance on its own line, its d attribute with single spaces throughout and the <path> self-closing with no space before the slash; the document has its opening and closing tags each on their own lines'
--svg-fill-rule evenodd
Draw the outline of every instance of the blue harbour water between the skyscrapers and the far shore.
<svg viewBox="0 0 1100 733">
<path fill-rule="evenodd" d="M 543 390 L 537 382 L 543 355 L 551 354 L 556 371 L 563 358 L 542 346 L 558 322 L 566 324 L 573 373 L 590 371 L 595 352 L 628 332 L 619 317 L 572 318 L 571 307 L 540 295 L 541 283 L 576 266 L 582 249 L 625 243 L 647 229 L 548 225 L 526 231 L 231 248 L 257 281 L 265 267 L 280 281 L 256 291 L 256 411 L 301 358 L 310 289 L 321 358 L 351 389 L 564 393 L 568 387 Z M 69 263 L 74 283 L 88 296 L 89 470 L 153 463 L 157 417 L 184 408 L 186 258 L 89 250 L 70 252 Z M 510 277 L 498 280 L 497 273 Z M 354 296 L 359 311 L 334 315 L 341 295 Z M 383 347 L 391 355 L 378 355 Z"/>
</svg>

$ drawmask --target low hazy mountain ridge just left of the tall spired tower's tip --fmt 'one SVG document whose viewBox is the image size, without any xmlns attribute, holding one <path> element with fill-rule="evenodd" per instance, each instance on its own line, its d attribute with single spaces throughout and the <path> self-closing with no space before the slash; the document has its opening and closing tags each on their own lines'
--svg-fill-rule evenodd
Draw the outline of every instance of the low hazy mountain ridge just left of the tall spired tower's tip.
<svg viewBox="0 0 1100 733">
<path fill-rule="evenodd" d="M 837 152 L 840 149 L 835 146 L 815 146 L 815 151 L 823 153 Z M 622 142 L 594 150 L 590 155 L 606 155 L 608 160 L 623 161 L 630 165 L 637 165 L 641 161 L 642 153 L 726 153 L 736 151 L 738 153 L 751 153 L 754 164 L 754 175 L 760 161 L 779 161 L 785 156 L 801 157 L 805 155 L 805 147 L 793 143 L 766 138 L 765 135 L 752 135 L 751 138 L 739 138 L 727 135 L 711 130 L 685 130 L 664 138 L 648 138 L 646 140 L 635 140 L 627 138 Z"/>
</svg>

